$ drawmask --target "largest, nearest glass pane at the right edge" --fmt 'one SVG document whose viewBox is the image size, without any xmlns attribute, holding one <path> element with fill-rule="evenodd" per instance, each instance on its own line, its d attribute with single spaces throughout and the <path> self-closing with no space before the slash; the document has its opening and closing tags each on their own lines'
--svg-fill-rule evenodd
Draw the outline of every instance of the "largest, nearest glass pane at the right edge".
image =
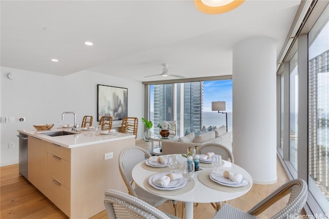
<svg viewBox="0 0 329 219">
<path fill-rule="evenodd" d="M 308 33 L 308 188 L 326 212 L 329 211 L 328 19 L 327 6 Z"/>
</svg>

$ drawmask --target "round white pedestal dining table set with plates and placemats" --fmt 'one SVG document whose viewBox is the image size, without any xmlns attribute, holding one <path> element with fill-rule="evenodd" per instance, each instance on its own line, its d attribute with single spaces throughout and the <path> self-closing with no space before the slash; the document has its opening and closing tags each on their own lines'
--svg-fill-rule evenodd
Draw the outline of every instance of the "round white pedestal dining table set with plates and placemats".
<svg viewBox="0 0 329 219">
<path fill-rule="evenodd" d="M 179 160 L 184 159 L 180 154 L 177 154 L 177 157 Z M 185 158 L 186 159 L 186 158 Z M 176 200 L 180 202 L 185 202 L 185 218 L 191 219 L 193 218 L 193 203 L 216 203 L 216 202 L 224 202 L 229 201 L 234 198 L 240 197 L 244 194 L 246 194 L 252 186 L 252 177 L 250 174 L 244 170 L 242 167 L 237 166 L 235 164 L 232 164 L 230 162 L 224 161 L 224 165 L 220 167 L 220 170 L 228 170 L 230 172 L 234 173 L 241 173 L 244 177 L 247 178 L 249 181 L 249 187 L 246 188 L 243 191 L 220 191 L 213 188 L 210 188 L 206 185 L 204 185 L 202 182 L 198 180 L 198 174 L 202 173 L 202 171 L 211 170 L 211 167 L 200 167 L 199 171 L 195 171 L 195 174 L 193 176 L 193 180 L 195 182 L 194 188 L 191 190 L 183 193 L 183 194 L 176 194 L 172 195 L 171 190 L 165 190 L 166 192 L 161 194 L 154 193 L 151 190 L 149 190 L 147 187 L 144 186 L 145 179 L 149 178 L 151 175 L 157 173 L 154 169 L 159 169 L 159 172 L 161 171 L 161 168 L 154 168 L 153 170 L 149 170 L 147 168 L 143 167 L 143 163 L 145 161 L 139 163 L 136 165 L 132 171 L 132 176 L 135 181 L 135 183 L 141 187 L 142 189 L 151 192 L 155 195 L 167 198 L 168 200 Z M 230 187 L 232 188 L 232 187 Z M 161 190 L 164 191 L 164 190 Z"/>
</svg>

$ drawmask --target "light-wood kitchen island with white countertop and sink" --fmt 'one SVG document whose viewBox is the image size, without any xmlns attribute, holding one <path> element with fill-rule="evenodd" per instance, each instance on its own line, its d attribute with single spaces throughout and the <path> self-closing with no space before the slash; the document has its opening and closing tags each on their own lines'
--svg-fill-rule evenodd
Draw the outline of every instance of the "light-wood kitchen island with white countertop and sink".
<svg viewBox="0 0 329 219">
<path fill-rule="evenodd" d="M 70 218 L 89 218 L 105 210 L 106 189 L 127 192 L 118 156 L 123 148 L 135 145 L 135 135 L 56 128 L 17 131 L 28 135 L 28 181 Z M 72 134 L 44 134 L 53 131 Z"/>
</svg>

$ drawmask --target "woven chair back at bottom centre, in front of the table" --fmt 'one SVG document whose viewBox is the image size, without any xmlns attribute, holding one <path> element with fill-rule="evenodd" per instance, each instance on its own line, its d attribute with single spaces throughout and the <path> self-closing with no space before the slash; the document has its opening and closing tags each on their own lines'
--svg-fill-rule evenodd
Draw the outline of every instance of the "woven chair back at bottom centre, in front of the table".
<svg viewBox="0 0 329 219">
<path fill-rule="evenodd" d="M 170 218 L 159 209 L 143 202 L 137 197 L 112 189 L 105 191 L 104 206 L 106 208 L 107 218 L 109 219 Z"/>
</svg>

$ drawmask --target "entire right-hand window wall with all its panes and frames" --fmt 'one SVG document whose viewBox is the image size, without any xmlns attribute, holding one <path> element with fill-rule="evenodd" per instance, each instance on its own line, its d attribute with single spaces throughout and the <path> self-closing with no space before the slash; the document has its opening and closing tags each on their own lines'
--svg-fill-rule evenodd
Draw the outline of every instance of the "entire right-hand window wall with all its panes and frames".
<svg viewBox="0 0 329 219">
<path fill-rule="evenodd" d="M 307 213 L 329 218 L 329 3 L 309 4 L 278 71 L 278 151 L 289 176 L 307 181 Z"/>
</svg>

